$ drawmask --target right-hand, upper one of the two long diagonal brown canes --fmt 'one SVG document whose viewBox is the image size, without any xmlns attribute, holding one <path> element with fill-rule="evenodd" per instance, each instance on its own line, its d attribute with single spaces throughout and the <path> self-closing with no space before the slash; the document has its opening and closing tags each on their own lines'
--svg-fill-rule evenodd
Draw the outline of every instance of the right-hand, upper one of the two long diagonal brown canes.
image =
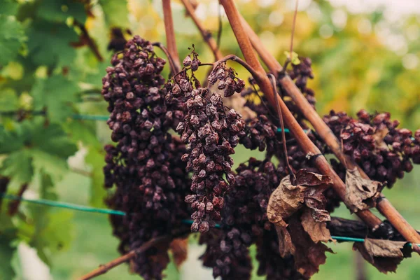
<svg viewBox="0 0 420 280">
<path fill-rule="evenodd" d="M 244 18 L 241 18 L 241 23 L 244 26 L 246 34 L 248 34 L 248 37 L 251 40 L 253 48 L 258 52 L 262 61 L 265 65 L 267 65 L 269 71 L 274 73 L 275 76 L 278 76 L 278 73 L 283 70 L 281 64 L 279 64 L 276 58 L 270 54 L 267 48 L 265 48 L 265 45 L 261 43 L 258 35 L 255 34 Z M 303 96 L 302 92 L 300 92 L 295 83 L 293 83 L 293 80 L 291 80 L 289 76 L 284 76 L 279 80 L 279 83 L 293 99 L 293 102 L 295 102 L 304 117 L 309 120 L 309 123 L 311 123 L 318 135 L 321 139 L 323 139 L 325 144 L 327 144 L 338 160 L 346 165 L 346 168 L 354 169 L 357 167 L 360 175 L 365 179 L 369 179 L 365 172 L 363 172 L 363 169 L 358 167 L 352 158 L 344 155 L 337 137 L 335 137 L 334 133 L 330 130 L 330 127 L 324 123 L 322 118 L 318 115 L 318 113 L 316 113 L 314 108 L 312 108 L 311 104 L 309 104 L 307 99 Z M 394 228 L 398 230 L 405 239 L 407 239 L 407 241 L 420 243 L 420 235 L 416 232 L 416 230 L 414 230 L 414 228 L 412 228 L 411 225 L 409 225 L 405 218 L 398 213 L 391 202 L 386 200 L 384 195 L 381 195 L 381 200 L 377 202 L 377 209 L 388 219 L 388 221 L 391 222 Z"/>
</svg>

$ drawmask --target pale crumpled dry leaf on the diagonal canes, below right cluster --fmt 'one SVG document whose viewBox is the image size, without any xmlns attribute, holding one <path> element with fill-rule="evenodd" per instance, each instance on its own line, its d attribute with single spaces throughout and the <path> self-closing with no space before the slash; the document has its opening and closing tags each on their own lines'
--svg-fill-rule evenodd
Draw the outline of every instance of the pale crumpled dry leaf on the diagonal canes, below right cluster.
<svg viewBox="0 0 420 280">
<path fill-rule="evenodd" d="M 346 196 L 344 200 L 352 213 L 376 206 L 382 184 L 362 178 L 358 169 L 346 171 Z"/>
</svg>

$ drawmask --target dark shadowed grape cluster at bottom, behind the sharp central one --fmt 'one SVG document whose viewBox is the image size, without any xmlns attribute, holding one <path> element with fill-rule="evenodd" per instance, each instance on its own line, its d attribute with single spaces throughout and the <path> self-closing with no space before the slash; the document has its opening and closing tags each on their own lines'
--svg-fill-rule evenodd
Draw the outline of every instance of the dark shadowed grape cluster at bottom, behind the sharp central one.
<svg viewBox="0 0 420 280">
<path fill-rule="evenodd" d="M 279 169 L 267 160 L 251 158 L 247 164 L 239 165 L 236 172 L 235 185 L 225 195 L 221 229 L 207 232 L 200 239 L 201 244 L 207 245 L 202 260 L 205 266 L 213 268 L 215 277 L 238 279 L 240 276 L 240 279 L 250 279 L 252 266 L 248 247 L 255 243 L 260 252 L 258 274 L 267 274 L 267 277 L 271 277 L 269 279 L 275 279 L 273 275 L 284 272 L 279 272 L 278 264 L 267 258 L 276 252 L 276 258 L 283 262 L 278 241 L 275 248 L 267 248 L 262 241 L 267 238 L 268 232 L 271 232 L 269 242 L 275 243 L 277 240 L 274 225 L 267 219 L 267 204 L 272 191 L 279 185 Z M 263 253 L 268 254 L 267 258 Z M 294 270 L 293 259 L 288 263 L 290 267 L 287 269 Z M 286 270 L 285 267 L 280 268 Z"/>
</svg>

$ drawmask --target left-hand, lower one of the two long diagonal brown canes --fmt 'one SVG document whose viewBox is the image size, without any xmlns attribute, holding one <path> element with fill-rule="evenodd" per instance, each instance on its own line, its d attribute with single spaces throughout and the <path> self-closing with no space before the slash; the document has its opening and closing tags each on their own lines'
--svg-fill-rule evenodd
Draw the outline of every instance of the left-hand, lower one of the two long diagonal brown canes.
<svg viewBox="0 0 420 280">
<path fill-rule="evenodd" d="M 258 58 L 256 57 L 255 53 L 253 52 L 253 48 L 251 45 L 251 41 L 249 41 L 248 35 L 244 30 L 244 27 L 241 25 L 241 19 L 239 15 L 239 11 L 235 7 L 235 3 L 232 0 L 220 0 L 223 8 L 225 8 L 226 15 L 228 15 L 228 19 L 230 25 L 235 33 L 237 38 L 239 48 L 245 57 L 245 61 L 251 65 L 251 67 L 257 72 L 257 75 L 253 78 L 260 86 L 260 89 L 267 97 L 269 104 L 274 106 L 276 99 L 274 97 L 274 90 L 272 88 L 271 83 L 269 82 L 269 78 L 266 76 L 264 69 L 262 68 Z M 278 100 L 279 106 L 281 111 L 283 112 L 283 118 L 288 125 L 290 132 L 292 132 L 293 136 L 295 137 L 297 143 L 300 145 L 304 153 L 310 153 L 313 155 L 321 154 L 321 151 L 315 146 L 314 143 L 309 139 L 307 134 L 304 133 L 302 127 L 300 127 L 297 120 L 295 120 L 293 114 L 289 111 L 286 104 L 284 104 L 282 99 Z M 333 182 L 333 188 L 335 192 L 344 200 L 346 194 L 346 186 L 344 182 L 339 178 L 339 176 L 335 173 L 334 169 L 329 165 L 328 161 L 323 156 L 318 156 L 314 158 L 314 164 L 318 167 L 319 171 L 322 174 L 330 176 Z M 374 216 L 371 211 L 364 210 L 358 211 L 357 215 L 361 218 L 370 228 L 377 228 L 381 224 L 381 220 Z"/>
</svg>

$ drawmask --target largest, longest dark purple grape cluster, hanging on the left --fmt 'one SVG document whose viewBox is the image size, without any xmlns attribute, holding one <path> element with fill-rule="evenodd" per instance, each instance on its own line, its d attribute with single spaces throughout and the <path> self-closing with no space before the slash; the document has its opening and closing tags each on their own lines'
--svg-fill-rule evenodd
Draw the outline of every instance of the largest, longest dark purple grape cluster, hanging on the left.
<svg viewBox="0 0 420 280">
<path fill-rule="evenodd" d="M 150 42 L 134 36 L 111 62 L 102 95 L 109 102 L 107 123 L 117 144 L 105 147 L 105 186 L 116 186 L 109 206 L 127 213 L 112 218 L 120 251 L 127 253 L 183 227 L 190 179 L 181 161 L 185 145 L 169 134 L 176 112 L 165 100 L 167 89 L 160 75 L 165 60 L 155 55 Z M 167 246 L 151 248 L 137 255 L 132 269 L 144 279 L 162 279 L 167 262 Z"/>
</svg>

